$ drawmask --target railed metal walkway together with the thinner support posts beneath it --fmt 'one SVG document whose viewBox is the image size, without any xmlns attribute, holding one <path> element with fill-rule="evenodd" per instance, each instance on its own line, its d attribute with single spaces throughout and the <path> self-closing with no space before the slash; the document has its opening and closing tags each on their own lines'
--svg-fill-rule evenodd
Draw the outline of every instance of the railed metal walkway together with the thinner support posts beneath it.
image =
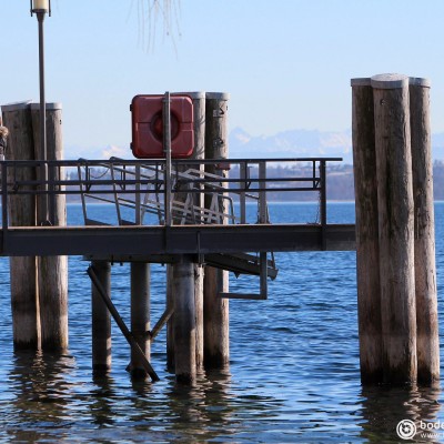
<svg viewBox="0 0 444 444">
<path fill-rule="evenodd" d="M 191 302 L 194 299 L 190 299 L 194 294 L 190 266 L 199 264 L 236 274 L 258 275 L 258 293 L 235 294 L 221 290 L 214 296 L 263 300 L 266 299 L 268 279 L 276 279 L 278 275 L 276 264 L 270 256 L 272 253 L 354 250 L 354 225 L 326 222 L 325 167 L 329 161 L 339 160 L 225 159 L 223 164 L 220 160 L 173 161 L 170 185 L 167 185 L 163 160 L 47 161 L 44 164 L 52 179 L 44 188 L 41 186 L 41 179 L 21 179 L 20 174 L 23 169 L 40 169 L 42 161 L 4 161 L 1 163 L 0 255 L 80 255 L 91 262 L 88 273 L 92 282 L 94 372 L 110 370 L 112 315 L 131 345 L 129 369 L 132 374 L 148 374 L 155 381 L 158 376 L 149 362 L 149 343 L 165 322 L 171 323 L 175 317 L 174 371 L 178 382 L 193 383 L 193 367 L 196 367 L 199 353 L 194 355 L 196 337 L 190 336 L 190 333 L 196 327 L 195 320 L 203 319 L 203 313 L 199 316 L 196 313 L 196 310 L 203 307 L 196 309 L 194 302 Z M 309 163 L 312 173 L 287 179 L 268 176 L 268 165 L 276 162 L 287 165 Z M 230 170 L 230 178 L 205 173 L 202 168 L 204 165 L 211 165 L 214 171 L 221 168 Z M 169 218 L 165 216 L 169 211 L 164 199 L 167 186 L 171 186 Z M 48 193 L 64 195 L 67 199 L 77 196 L 82 202 L 84 223 L 80 226 L 11 226 L 9 204 L 13 200 L 10 198 L 24 195 L 32 199 L 42 195 L 42 189 L 52 190 Z M 266 196 L 276 189 L 294 193 L 295 200 L 300 191 L 312 191 L 320 195 L 319 221 L 273 224 L 269 216 Z M 180 199 L 176 199 L 179 193 Z M 199 194 L 202 199 L 195 199 Z M 199 202 L 203 201 L 203 196 L 210 200 L 210 204 L 201 206 Z M 115 210 L 114 224 L 91 215 L 91 203 L 98 202 Z M 252 203 L 255 209 L 253 216 L 248 215 L 249 202 L 249 208 Z M 167 224 L 167 220 L 172 223 Z M 131 268 L 131 304 L 134 306 L 131 330 L 123 323 L 111 301 L 110 263 L 115 262 L 134 264 Z M 173 289 L 173 309 L 167 309 L 150 331 L 149 273 L 142 270 L 140 274 L 137 270 L 157 262 L 172 264 L 174 279 L 180 285 Z M 135 310 L 137 306 L 139 310 Z M 178 330 L 179 325 L 181 330 Z M 142 332 L 143 329 L 147 331 Z"/>
</svg>

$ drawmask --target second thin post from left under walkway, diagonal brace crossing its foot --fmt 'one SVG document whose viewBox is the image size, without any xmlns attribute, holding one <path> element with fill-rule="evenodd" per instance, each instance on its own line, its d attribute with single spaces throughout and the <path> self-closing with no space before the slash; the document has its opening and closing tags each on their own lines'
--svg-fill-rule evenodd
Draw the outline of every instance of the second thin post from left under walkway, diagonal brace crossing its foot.
<svg viewBox="0 0 444 444">
<path fill-rule="evenodd" d="M 131 333 L 147 360 L 150 361 L 150 264 L 131 263 Z M 131 350 L 131 375 L 145 377 L 147 371 L 139 354 Z"/>
</svg>

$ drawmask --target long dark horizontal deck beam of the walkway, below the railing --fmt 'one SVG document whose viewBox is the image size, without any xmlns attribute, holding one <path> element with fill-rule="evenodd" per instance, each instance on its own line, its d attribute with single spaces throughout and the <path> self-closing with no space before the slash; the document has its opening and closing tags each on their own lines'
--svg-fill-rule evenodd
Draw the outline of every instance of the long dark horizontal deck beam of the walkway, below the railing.
<svg viewBox="0 0 444 444">
<path fill-rule="evenodd" d="M 355 249 L 355 234 L 353 224 L 32 226 L 2 231 L 0 244 L 3 256 L 140 256 L 152 262 L 153 255 L 347 251 Z"/>
</svg>

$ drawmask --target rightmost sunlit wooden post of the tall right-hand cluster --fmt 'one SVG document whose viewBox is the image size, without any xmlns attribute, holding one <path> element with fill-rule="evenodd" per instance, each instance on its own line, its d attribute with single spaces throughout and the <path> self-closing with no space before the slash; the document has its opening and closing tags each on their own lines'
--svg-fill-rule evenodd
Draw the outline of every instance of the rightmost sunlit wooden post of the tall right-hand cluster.
<svg viewBox="0 0 444 444">
<path fill-rule="evenodd" d="M 415 226 L 417 380 L 440 381 L 440 339 L 435 266 L 435 220 L 430 127 L 430 82 L 410 79 L 410 124 Z"/>
</svg>

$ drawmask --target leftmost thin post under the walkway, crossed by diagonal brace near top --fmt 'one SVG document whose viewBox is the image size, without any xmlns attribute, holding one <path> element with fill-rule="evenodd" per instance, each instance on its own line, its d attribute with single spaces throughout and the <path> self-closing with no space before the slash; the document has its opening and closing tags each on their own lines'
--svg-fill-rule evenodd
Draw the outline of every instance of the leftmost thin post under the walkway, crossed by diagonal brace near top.
<svg viewBox="0 0 444 444">
<path fill-rule="evenodd" d="M 107 294 L 111 294 L 111 265 L 93 261 L 92 268 Z M 95 285 L 91 282 L 92 371 L 95 375 L 111 370 L 111 317 Z"/>
</svg>

